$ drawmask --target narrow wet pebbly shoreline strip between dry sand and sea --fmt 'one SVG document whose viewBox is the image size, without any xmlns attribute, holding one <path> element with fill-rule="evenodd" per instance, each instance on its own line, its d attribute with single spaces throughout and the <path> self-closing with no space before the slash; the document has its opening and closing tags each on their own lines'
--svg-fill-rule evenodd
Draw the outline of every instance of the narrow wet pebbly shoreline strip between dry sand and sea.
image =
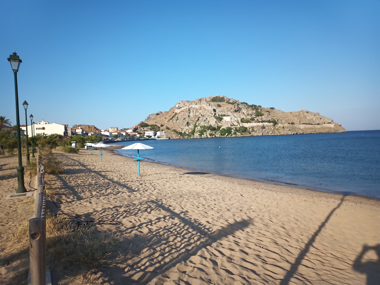
<svg viewBox="0 0 380 285">
<path fill-rule="evenodd" d="M 115 150 L 119 150 L 119 147 L 122 148 L 122 147 L 124 147 L 124 145 L 114 144 L 112 146 L 117 146 L 118 148 L 106 149 L 106 150 L 108 150 L 109 152 L 112 152 L 112 153 L 114 153 L 116 155 L 120 155 L 120 156 L 128 158 L 128 159 L 130 159 L 132 161 L 135 161 L 131 157 L 128 157 L 126 155 L 119 154 L 119 153 L 115 152 Z M 144 163 L 152 163 L 154 165 L 169 166 L 171 168 L 191 170 L 191 171 L 196 171 L 196 172 L 200 172 L 200 173 L 206 173 L 207 172 L 207 171 L 205 172 L 205 171 L 201 171 L 201 170 L 197 170 L 197 169 L 185 168 L 185 167 L 181 167 L 181 166 L 173 166 L 173 165 L 169 165 L 169 164 L 165 164 L 165 163 L 161 163 L 161 162 L 154 162 L 154 161 L 147 161 L 146 160 L 146 161 L 144 161 Z M 276 186 L 288 187 L 288 188 L 292 188 L 292 189 L 298 189 L 298 190 L 303 190 L 303 191 L 310 191 L 310 192 L 320 193 L 320 194 L 328 194 L 328 195 L 334 195 L 334 196 L 340 196 L 340 197 L 341 196 L 345 196 L 345 197 L 352 197 L 352 198 L 356 198 L 356 199 L 365 199 L 367 201 L 375 201 L 375 202 L 379 202 L 380 203 L 380 198 L 378 199 L 378 198 L 366 197 L 366 196 L 360 196 L 360 195 L 344 195 L 343 193 L 330 193 L 330 192 L 325 192 L 325 191 L 321 191 L 321 190 L 315 190 L 315 189 L 311 189 L 311 188 L 294 187 L 294 186 L 292 186 L 294 184 L 290 184 L 290 183 L 286 183 L 286 182 L 281 182 L 281 181 L 273 181 L 273 182 L 279 182 L 279 183 L 270 183 L 270 182 L 265 182 L 265 181 L 256 180 L 256 179 L 250 179 L 250 178 L 244 178 L 244 177 L 235 177 L 235 176 L 228 176 L 228 175 L 218 174 L 218 173 L 212 173 L 212 172 L 207 172 L 207 174 L 214 174 L 214 175 L 217 175 L 217 176 L 220 176 L 220 177 L 228 177 L 230 179 L 242 179 L 242 180 L 252 181 L 252 182 L 256 182 L 256 183 L 262 183 L 262 184 L 268 184 L 268 185 L 276 185 Z M 284 184 L 290 184 L 290 185 L 284 185 Z"/>
</svg>

